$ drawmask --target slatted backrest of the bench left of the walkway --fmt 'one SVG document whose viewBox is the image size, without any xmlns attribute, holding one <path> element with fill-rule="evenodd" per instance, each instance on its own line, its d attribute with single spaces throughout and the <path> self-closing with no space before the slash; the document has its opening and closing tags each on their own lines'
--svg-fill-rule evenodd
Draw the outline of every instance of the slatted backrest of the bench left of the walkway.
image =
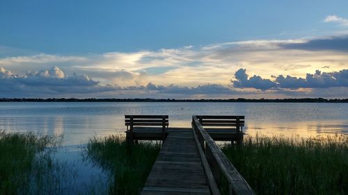
<svg viewBox="0 0 348 195">
<path fill-rule="evenodd" d="M 168 115 L 125 115 L 125 125 L 168 127 Z"/>
</svg>

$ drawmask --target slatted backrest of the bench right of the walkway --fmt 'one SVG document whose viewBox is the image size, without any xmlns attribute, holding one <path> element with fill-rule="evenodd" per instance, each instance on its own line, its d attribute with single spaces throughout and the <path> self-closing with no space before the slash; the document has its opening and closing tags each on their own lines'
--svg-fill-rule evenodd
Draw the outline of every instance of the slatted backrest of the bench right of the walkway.
<svg viewBox="0 0 348 195">
<path fill-rule="evenodd" d="M 235 127 L 237 131 L 244 126 L 244 116 L 196 115 L 198 121 L 205 127 Z"/>
</svg>

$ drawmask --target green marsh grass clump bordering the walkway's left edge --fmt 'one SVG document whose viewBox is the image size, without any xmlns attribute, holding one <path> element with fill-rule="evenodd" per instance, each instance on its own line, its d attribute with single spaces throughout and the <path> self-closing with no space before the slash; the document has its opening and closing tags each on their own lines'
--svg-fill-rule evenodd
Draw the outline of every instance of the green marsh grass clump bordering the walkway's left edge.
<svg viewBox="0 0 348 195">
<path fill-rule="evenodd" d="M 109 194 L 140 194 L 159 153 L 159 144 L 127 144 L 122 135 L 90 139 L 86 158 L 111 173 Z"/>
</svg>

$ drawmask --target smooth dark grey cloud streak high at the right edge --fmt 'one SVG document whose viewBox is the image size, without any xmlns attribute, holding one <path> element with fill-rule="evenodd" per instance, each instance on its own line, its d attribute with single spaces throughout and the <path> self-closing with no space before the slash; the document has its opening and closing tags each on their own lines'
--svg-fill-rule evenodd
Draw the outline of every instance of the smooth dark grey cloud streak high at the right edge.
<svg viewBox="0 0 348 195">
<path fill-rule="evenodd" d="M 280 43 L 278 45 L 284 49 L 348 51 L 348 36 L 313 39 L 301 43 Z"/>
</svg>

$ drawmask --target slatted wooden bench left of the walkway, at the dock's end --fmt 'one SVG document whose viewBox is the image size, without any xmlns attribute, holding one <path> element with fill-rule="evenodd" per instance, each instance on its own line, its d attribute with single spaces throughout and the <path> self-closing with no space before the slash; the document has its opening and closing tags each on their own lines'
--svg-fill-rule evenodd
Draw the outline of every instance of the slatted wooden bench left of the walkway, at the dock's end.
<svg viewBox="0 0 348 195">
<path fill-rule="evenodd" d="M 163 140 L 168 133 L 168 115 L 125 115 L 126 139 Z"/>
</svg>

